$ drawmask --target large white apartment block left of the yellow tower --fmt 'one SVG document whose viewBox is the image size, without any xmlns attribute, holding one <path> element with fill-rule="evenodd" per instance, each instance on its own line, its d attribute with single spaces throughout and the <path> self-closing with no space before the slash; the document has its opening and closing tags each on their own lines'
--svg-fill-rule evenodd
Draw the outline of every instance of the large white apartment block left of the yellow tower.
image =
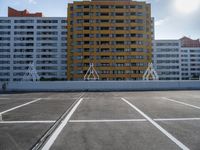
<svg viewBox="0 0 200 150">
<path fill-rule="evenodd" d="M 0 82 L 21 81 L 31 63 L 40 78 L 66 79 L 65 17 L 0 17 Z"/>
</svg>

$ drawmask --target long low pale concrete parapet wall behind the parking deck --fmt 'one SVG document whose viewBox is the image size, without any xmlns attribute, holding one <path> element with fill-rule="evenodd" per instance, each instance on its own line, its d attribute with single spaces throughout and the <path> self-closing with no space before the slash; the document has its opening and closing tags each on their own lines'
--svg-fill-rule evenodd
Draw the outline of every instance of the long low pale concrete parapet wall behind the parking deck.
<svg viewBox="0 0 200 150">
<path fill-rule="evenodd" d="M 7 91 L 200 90 L 200 81 L 43 81 L 10 82 Z"/>
</svg>

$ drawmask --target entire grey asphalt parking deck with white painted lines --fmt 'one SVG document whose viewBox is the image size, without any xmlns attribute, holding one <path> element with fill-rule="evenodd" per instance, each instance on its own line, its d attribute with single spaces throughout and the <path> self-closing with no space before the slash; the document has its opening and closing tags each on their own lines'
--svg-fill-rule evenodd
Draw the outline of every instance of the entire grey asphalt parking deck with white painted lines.
<svg viewBox="0 0 200 150">
<path fill-rule="evenodd" d="M 52 150 L 200 149 L 200 91 L 82 94 L 0 94 L 0 150 L 31 149 L 67 110 Z"/>
</svg>

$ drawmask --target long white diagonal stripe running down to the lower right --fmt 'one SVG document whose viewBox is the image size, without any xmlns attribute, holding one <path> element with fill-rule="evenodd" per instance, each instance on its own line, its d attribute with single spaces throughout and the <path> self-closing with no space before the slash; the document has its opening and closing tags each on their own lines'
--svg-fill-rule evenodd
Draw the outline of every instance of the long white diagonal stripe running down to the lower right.
<svg viewBox="0 0 200 150">
<path fill-rule="evenodd" d="M 158 123 L 156 123 L 153 119 L 148 117 L 144 112 L 138 109 L 135 105 L 130 103 L 128 100 L 121 98 L 124 102 L 134 108 L 137 112 L 139 112 L 143 117 L 145 117 L 152 125 L 154 125 L 157 129 L 159 129 L 163 134 L 165 134 L 171 141 L 173 141 L 176 145 L 178 145 L 183 150 L 189 150 L 183 143 L 181 143 L 178 139 L 176 139 L 173 135 L 171 135 L 168 131 L 162 128 Z"/>
</svg>

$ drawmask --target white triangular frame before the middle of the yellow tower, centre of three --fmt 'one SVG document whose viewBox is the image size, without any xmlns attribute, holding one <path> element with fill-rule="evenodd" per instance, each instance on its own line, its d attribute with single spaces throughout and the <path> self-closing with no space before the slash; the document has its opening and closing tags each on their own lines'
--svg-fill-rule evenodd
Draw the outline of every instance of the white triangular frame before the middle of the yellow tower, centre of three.
<svg viewBox="0 0 200 150">
<path fill-rule="evenodd" d="M 90 67 L 88 68 L 84 80 L 99 80 L 99 75 L 94 69 L 94 64 L 90 63 Z"/>
</svg>

